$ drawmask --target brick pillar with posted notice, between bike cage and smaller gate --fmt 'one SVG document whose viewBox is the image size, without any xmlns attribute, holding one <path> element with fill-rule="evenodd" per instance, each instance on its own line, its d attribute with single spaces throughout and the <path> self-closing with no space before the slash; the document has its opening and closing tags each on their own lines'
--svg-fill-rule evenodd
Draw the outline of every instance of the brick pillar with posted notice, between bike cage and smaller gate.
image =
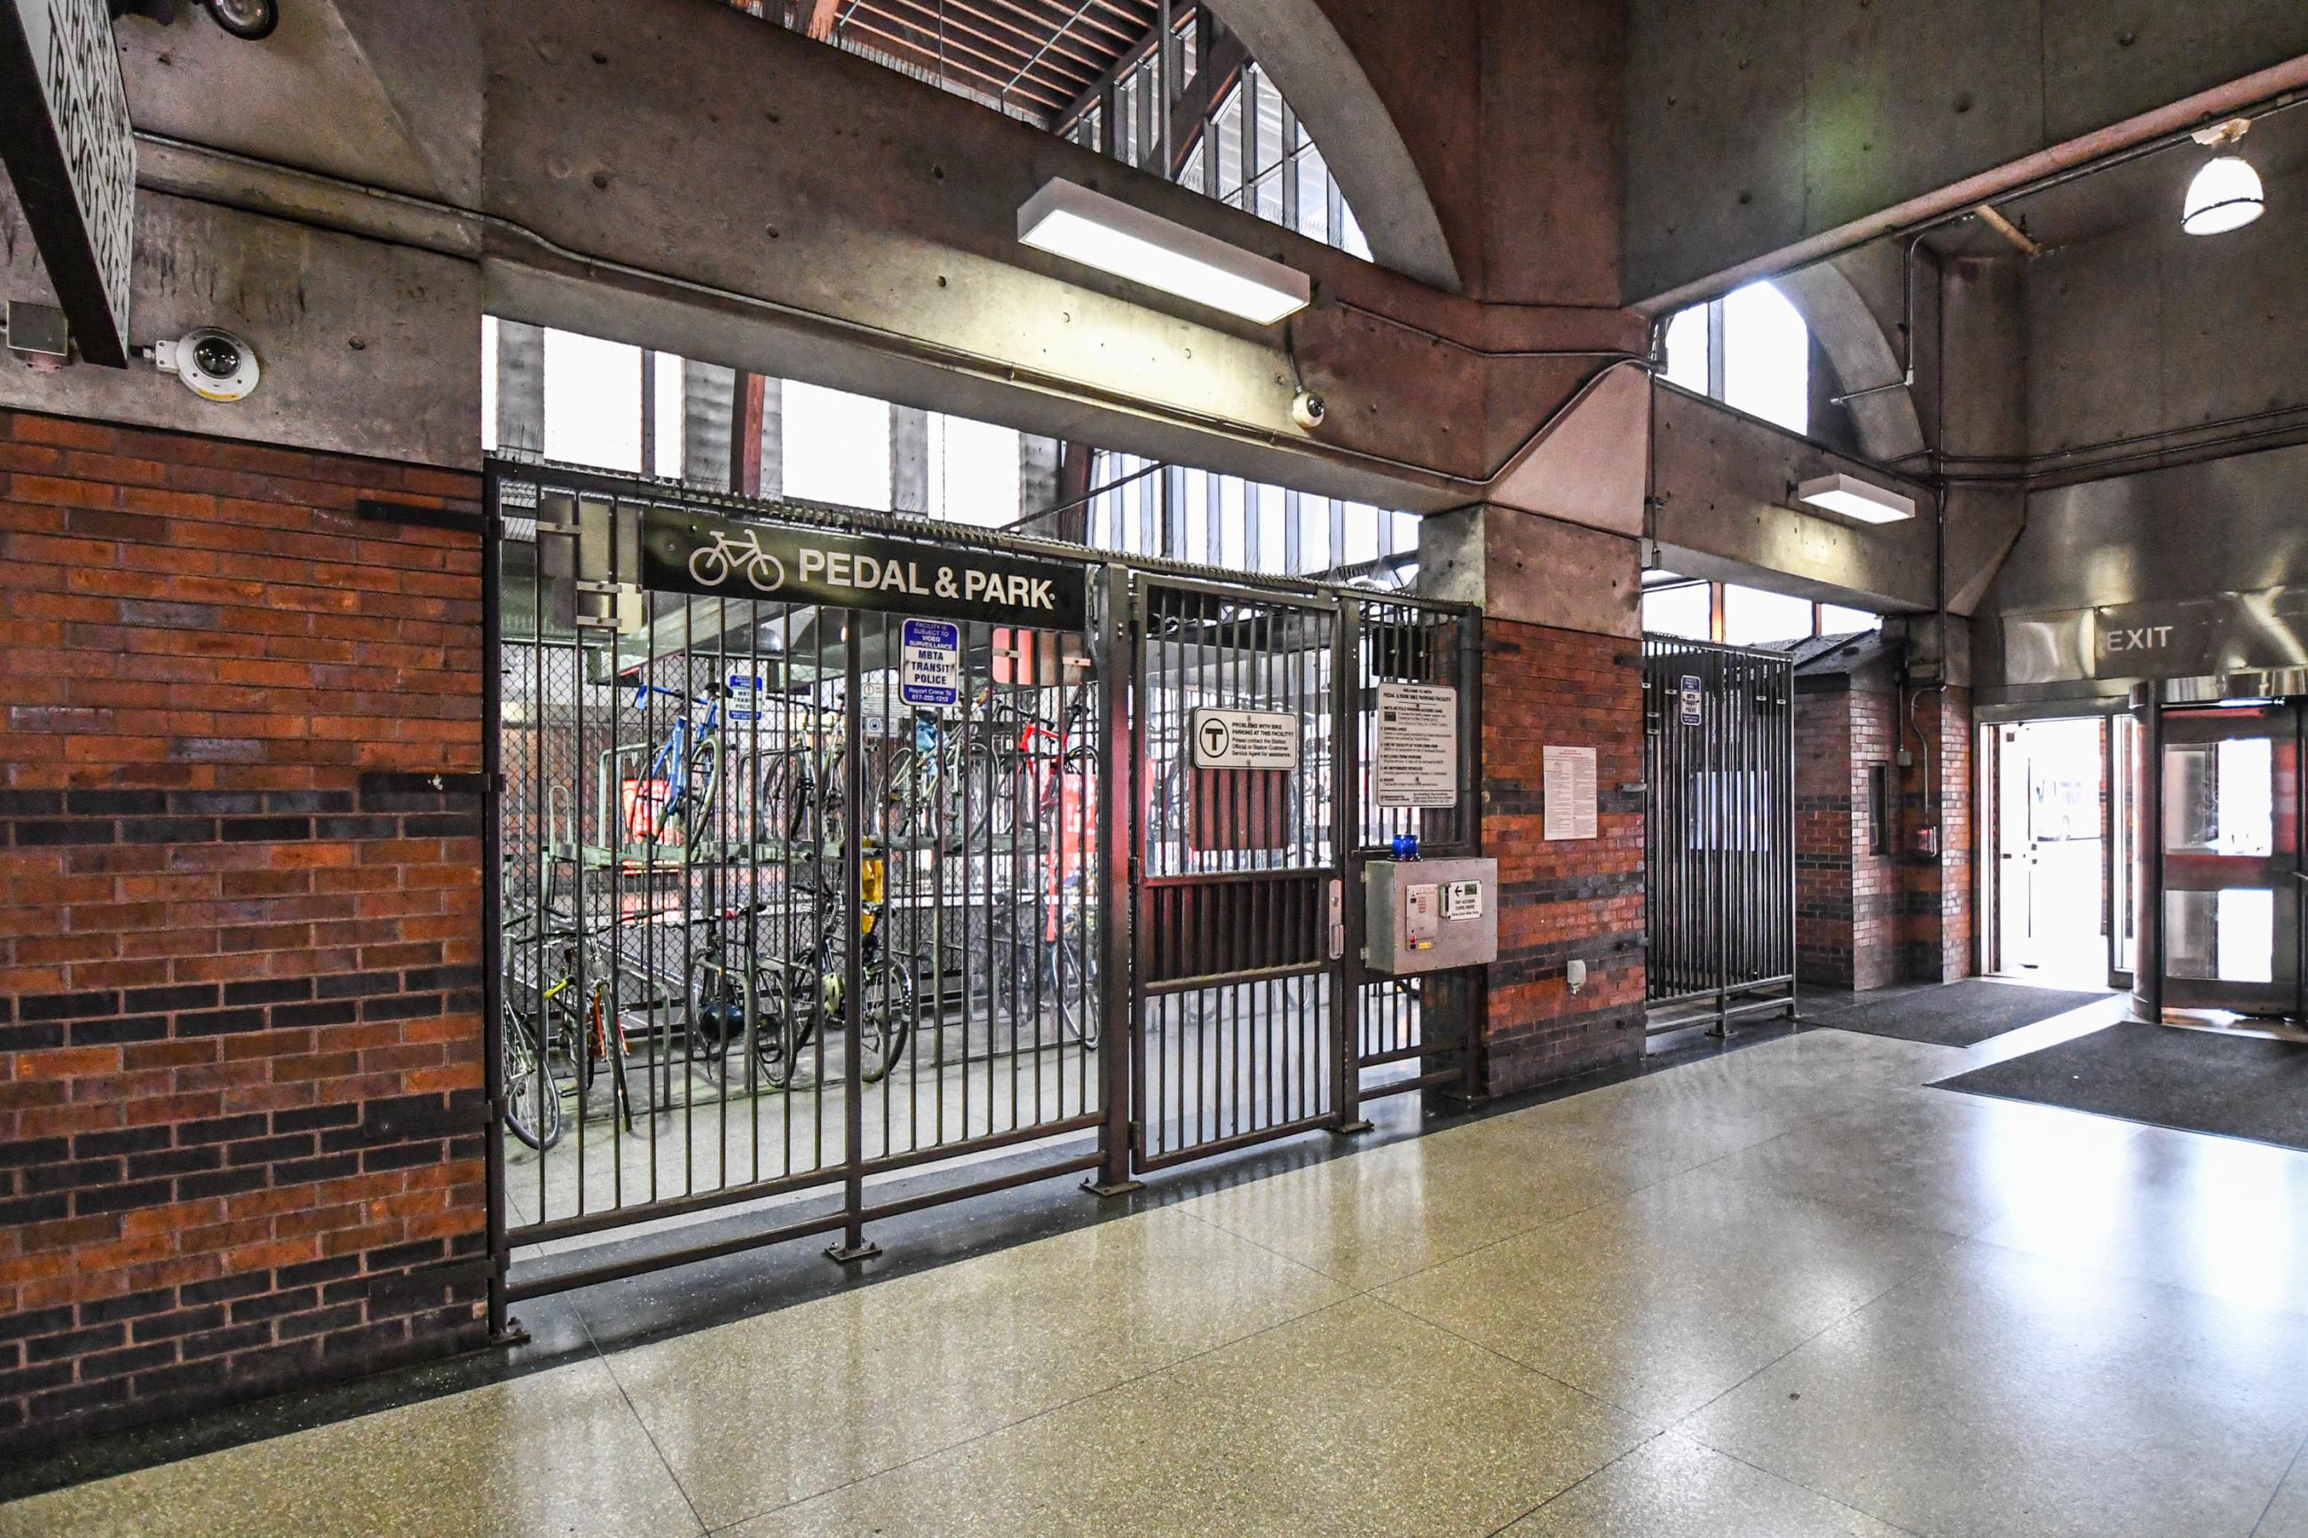
<svg viewBox="0 0 2308 1538">
<path fill-rule="evenodd" d="M 1641 643 L 1482 627 L 1484 851 L 1498 858 L 1486 1086 L 1549 1084 L 1643 1051 Z M 1597 837 L 1544 837 L 1544 747 L 1597 749 Z M 1588 964 L 1572 994 L 1565 962 Z"/>
</svg>

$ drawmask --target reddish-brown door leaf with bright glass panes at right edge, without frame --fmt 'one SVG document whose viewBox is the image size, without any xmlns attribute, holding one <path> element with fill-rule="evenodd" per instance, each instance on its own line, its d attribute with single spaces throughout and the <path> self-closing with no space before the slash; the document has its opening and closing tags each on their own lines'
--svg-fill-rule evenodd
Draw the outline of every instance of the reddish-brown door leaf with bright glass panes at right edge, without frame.
<svg viewBox="0 0 2308 1538">
<path fill-rule="evenodd" d="M 2165 1008 L 2299 1017 L 2299 710 L 2167 710 Z"/>
</svg>

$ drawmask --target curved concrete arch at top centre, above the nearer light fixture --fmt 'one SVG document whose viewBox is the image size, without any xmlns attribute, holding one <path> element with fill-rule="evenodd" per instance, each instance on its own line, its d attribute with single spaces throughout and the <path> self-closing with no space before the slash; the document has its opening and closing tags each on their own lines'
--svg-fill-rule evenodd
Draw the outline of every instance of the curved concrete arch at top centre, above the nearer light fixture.
<svg viewBox="0 0 2308 1538">
<path fill-rule="evenodd" d="M 1322 148 L 1329 173 L 1362 221 L 1371 261 L 1459 293 L 1459 263 L 1442 238 L 1426 180 L 1394 115 L 1318 0 L 1216 0 L 1212 12 L 1242 39 Z"/>
</svg>

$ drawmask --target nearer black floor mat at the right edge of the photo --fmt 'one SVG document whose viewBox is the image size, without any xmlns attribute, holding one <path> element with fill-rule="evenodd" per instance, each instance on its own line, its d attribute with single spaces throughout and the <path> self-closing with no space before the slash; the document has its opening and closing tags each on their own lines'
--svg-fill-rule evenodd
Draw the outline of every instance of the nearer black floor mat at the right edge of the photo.
<svg viewBox="0 0 2308 1538">
<path fill-rule="evenodd" d="M 2308 1148 L 2308 1045 L 2119 1021 L 1939 1088 Z"/>
</svg>

